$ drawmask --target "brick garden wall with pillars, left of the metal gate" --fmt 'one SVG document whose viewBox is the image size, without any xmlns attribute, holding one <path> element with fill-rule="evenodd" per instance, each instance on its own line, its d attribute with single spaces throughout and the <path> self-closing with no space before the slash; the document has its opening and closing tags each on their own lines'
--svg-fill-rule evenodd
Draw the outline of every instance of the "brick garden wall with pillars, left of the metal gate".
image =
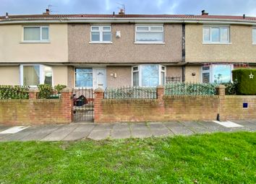
<svg viewBox="0 0 256 184">
<path fill-rule="evenodd" d="M 72 89 L 61 91 L 60 99 L 36 99 L 30 91 L 28 100 L 0 100 L 0 124 L 42 125 L 72 122 Z"/>
</svg>

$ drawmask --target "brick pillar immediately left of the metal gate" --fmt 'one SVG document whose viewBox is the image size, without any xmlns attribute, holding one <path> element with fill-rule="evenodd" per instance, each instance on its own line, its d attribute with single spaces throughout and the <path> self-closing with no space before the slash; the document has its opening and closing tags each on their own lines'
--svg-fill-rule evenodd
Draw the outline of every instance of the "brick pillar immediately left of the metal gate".
<svg viewBox="0 0 256 184">
<path fill-rule="evenodd" d="M 73 121 L 73 89 L 66 87 L 61 90 L 62 117 L 66 118 L 67 123 Z"/>
</svg>

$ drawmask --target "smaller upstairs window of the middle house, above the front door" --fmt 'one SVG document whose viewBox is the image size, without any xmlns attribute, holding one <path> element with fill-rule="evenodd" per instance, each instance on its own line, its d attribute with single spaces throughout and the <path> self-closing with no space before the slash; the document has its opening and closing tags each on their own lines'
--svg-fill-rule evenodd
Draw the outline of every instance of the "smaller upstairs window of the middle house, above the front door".
<svg viewBox="0 0 256 184">
<path fill-rule="evenodd" d="M 90 41 L 92 43 L 110 43 L 111 42 L 111 26 L 91 26 Z"/>
</svg>

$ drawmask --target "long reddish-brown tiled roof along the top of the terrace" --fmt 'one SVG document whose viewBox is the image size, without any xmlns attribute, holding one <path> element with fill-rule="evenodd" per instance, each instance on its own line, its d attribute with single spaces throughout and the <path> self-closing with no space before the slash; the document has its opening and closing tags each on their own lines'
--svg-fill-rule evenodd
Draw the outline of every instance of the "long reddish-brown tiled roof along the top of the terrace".
<svg viewBox="0 0 256 184">
<path fill-rule="evenodd" d="M 194 14 L 27 14 L 27 15 L 9 15 L 8 17 L 1 16 L 0 22 L 12 21 L 32 21 L 32 20 L 89 20 L 89 19 L 104 19 L 118 21 L 119 19 L 166 19 L 179 21 L 234 21 L 234 22 L 253 22 L 256 23 L 256 17 L 243 17 L 231 15 L 194 15 Z"/>
</svg>

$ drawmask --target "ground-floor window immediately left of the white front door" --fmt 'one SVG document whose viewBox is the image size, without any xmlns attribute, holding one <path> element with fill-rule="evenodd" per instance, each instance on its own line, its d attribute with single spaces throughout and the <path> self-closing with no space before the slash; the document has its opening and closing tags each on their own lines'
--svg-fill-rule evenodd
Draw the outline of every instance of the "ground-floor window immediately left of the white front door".
<svg viewBox="0 0 256 184">
<path fill-rule="evenodd" d="M 75 69 L 75 87 L 93 87 L 93 69 Z"/>
</svg>

